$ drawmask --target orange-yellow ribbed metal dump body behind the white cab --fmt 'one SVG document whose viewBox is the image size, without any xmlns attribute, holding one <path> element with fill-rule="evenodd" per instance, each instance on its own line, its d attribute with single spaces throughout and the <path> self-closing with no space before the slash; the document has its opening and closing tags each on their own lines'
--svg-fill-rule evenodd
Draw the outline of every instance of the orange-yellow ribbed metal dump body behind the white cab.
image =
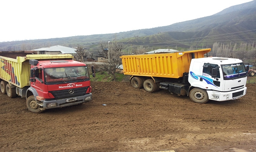
<svg viewBox="0 0 256 152">
<path fill-rule="evenodd" d="M 211 49 L 201 49 L 165 54 L 123 55 L 123 73 L 133 76 L 153 76 L 180 78 L 189 71 L 192 53 L 194 58 L 202 58 Z"/>
</svg>

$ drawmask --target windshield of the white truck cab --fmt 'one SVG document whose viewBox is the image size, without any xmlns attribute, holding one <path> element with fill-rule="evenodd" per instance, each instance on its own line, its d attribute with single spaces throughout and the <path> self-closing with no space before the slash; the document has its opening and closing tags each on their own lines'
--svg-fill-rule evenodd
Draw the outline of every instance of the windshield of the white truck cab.
<svg viewBox="0 0 256 152">
<path fill-rule="evenodd" d="M 221 68 L 224 79 L 236 79 L 247 76 L 243 63 L 221 65 Z"/>
</svg>

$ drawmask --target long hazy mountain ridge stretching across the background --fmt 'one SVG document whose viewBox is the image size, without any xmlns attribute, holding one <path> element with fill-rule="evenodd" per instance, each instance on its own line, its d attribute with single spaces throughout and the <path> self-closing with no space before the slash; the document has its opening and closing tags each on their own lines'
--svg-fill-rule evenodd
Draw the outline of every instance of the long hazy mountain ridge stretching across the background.
<svg viewBox="0 0 256 152">
<path fill-rule="evenodd" d="M 126 47 L 142 45 L 146 48 L 211 47 L 215 42 L 256 42 L 256 0 L 231 6 L 212 16 L 164 27 L 113 34 L 2 42 L 0 51 L 32 50 L 54 45 L 67 47 L 79 45 L 87 47 L 89 51 L 97 51 L 99 43 L 114 39 L 122 42 Z M 127 49 L 126 47 L 124 49 Z"/>
</svg>

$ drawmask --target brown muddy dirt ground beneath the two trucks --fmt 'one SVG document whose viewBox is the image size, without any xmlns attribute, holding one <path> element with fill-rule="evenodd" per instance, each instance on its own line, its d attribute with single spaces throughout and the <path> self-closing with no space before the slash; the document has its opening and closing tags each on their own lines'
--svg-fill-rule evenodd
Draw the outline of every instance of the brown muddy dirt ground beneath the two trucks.
<svg viewBox="0 0 256 152">
<path fill-rule="evenodd" d="M 41 114 L 0 94 L 0 151 L 256 152 L 255 84 L 238 100 L 206 104 L 129 82 L 91 85 L 92 101 Z"/>
</svg>

